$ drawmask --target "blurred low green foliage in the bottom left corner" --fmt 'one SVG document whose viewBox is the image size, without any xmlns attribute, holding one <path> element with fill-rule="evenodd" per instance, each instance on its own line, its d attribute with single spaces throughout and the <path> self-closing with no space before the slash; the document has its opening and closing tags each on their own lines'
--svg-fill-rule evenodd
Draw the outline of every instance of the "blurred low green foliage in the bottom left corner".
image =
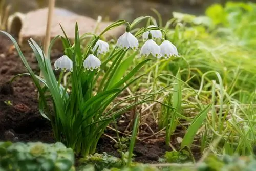
<svg viewBox="0 0 256 171">
<path fill-rule="evenodd" d="M 5 170 L 75 170 L 74 152 L 55 144 L 0 142 L 0 168 Z"/>
</svg>

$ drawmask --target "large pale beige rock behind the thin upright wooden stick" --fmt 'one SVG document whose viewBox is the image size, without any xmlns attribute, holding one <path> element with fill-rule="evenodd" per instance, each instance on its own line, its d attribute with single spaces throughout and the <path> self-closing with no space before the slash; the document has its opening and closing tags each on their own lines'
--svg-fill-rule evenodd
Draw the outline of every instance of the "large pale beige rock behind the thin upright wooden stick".
<svg viewBox="0 0 256 171">
<path fill-rule="evenodd" d="M 24 45 L 29 38 L 33 38 L 37 43 L 43 44 L 47 25 L 48 8 L 41 8 L 35 11 L 23 13 L 14 13 L 8 19 L 7 31 L 17 35 L 19 44 Z M 79 34 L 94 32 L 97 21 L 87 16 L 81 16 L 65 9 L 55 8 L 52 18 L 51 38 L 57 35 L 64 36 L 60 25 L 65 30 L 70 40 L 74 40 L 75 24 L 78 23 Z M 99 34 L 113 22 L 101 22 L 98 25 L 96 34 Z M 103 37 L 106 40 L 117 38 L 123 34 L 125 26 L 119 26 L 106 32 Z M 61 41 L 56 42 L 55 48 L 62 47 Z M 62 50 L 62 49 L 61 49 Z"/>
</svg>

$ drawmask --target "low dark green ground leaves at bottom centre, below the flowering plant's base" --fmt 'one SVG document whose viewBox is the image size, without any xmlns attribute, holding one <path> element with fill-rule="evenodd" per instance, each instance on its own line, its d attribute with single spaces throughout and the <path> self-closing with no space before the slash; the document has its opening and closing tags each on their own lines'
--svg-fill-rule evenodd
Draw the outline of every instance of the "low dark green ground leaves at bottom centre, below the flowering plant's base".
<svg viewBox="0 0 256 171">
<path fill-rule="evenodd" d="M 93 165 L 95 170 L 103 170 L 104 168 L 120 168 L 122 166 L 122 160 L 103 152 L 102 154 L 89 155 L 79 160 L 80 169 L 87 165 Z"/>
</svg>

